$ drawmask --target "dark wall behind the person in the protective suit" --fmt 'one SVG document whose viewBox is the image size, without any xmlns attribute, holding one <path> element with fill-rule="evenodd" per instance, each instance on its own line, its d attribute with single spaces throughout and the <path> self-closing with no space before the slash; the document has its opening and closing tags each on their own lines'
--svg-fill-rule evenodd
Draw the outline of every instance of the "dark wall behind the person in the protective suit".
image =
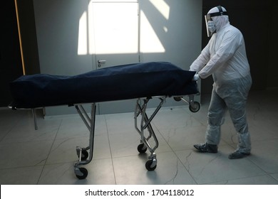
<svg viewBox="0 0 278 199">
<path fill-rule="evenodd" d="M 272 81 L 267 84 L 269 71 L 278 72 L 277 64 L 273 64 L 274 46 L 277 46 L 277 39 L 269 37 L 277 29 L 274 24 L 274 1 L 266 0 L 210 0 L 203 1 L 203 15 L 207 14 L 214 6 L 224 6 L 227 9 L 230 23 L 240 29 L 244 36 L 244 41 L 247 50 L 247 57 L 249 60 L 250 70 L 252 74 L 252 90 L 264 90 L 267 87 L 277 87 L 276 82 Z M 277 22 L 275 22 L 277 23 Z M 202 48 L 207 45 L 209 38 L 207 38 L 205 31 L 205 23 L 202 24 Z M 274 45 L 273 43 L 276 43 Z M 272 78 L 273 79 L 273 78 Z M 210 93 L 212 90 L 212 77 L 202 80 L 202 93 Z"/>
</svg>

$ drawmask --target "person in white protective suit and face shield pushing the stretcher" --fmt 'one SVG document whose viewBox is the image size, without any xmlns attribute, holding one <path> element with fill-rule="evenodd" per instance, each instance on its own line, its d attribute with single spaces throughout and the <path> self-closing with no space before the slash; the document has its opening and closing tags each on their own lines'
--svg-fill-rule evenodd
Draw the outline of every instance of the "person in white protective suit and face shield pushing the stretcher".
<svg viewBox="0 0 278 199">
<path fill-rule="evenodd" d="M 238 138 L 237 149 L 228 158 L 243 158 L 251 151 L 245 107 L 252 85 L 244 38 L 237 28 L 230 25 L 227 11 L 222 6 L 210 9 L 205 21 L 207 36 L 211 38 L 190 65 L 190 70 L 196 71 L 193 80 L 212 75 L 214 83 L 207 114 L 206 141 L 205 144 L 195 144 L 194 147 L 200 152 L 217 153 L 220 127 L 228 110 Z"/>
</svg>

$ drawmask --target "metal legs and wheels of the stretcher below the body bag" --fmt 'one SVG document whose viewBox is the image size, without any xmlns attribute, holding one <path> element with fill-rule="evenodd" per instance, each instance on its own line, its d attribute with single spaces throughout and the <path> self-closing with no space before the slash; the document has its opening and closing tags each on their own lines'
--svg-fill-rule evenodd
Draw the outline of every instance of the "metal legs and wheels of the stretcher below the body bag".
<svg viewBox="0 0 278 199">
<path fill-rule="evenodd" d="M 145 168 L 148 171 L 155 170 L 157 166 L 157 157 L 155 154 L 155 150 L 158 148 L 158 139 L 155 136 L 155 131 L 153 131 L 153 127 L 151 122 L 155 115 L 158 113 L 160 108 L 163 106 L 165 102 L 166 96 L 155 97 L 160 99 L 157 107 L 153 111 L 150 117 L 148 117 L 146 113 L 147 105 L 150 99 L 153 97 L 145 97 L 138 98 L 135 105 L 134 112 L 134 122 L 135 129 L 138 131 L 140 135 L 140 144 L 138 145 L 138 152 L 143 154 L 147 151 L 150 151 L 150 156 L 148 157 L 148 161 L 145 163 Z M 187 101 L 184 97 L 174 97 L 176 101 L 180 101 L 181 99 L 189 104 L 189 108 L 191 112 L 197 112 L 200 109 L 200 103 L 194 101 L 194 95 L 189 95 L 189 100 Z M 74 163 L 74 173 L 78 179 L 84 179 L 88 176 L 88 171 L 86 168 L 81 166 L 90 163 L 93 159 L 93 146 L 94 146 L 94 135 L 95 135 L 95 123 L 96 123 L 96 103 L 91 104 L 91 116 L 88 115 L 86 110 L 83 108 L 82 104 L 75 105 L 76 110 L 83 120 L 84 124 L 88 128 L 90 132 L 89 144 L 87 147 L 76 146 L 76 153 L 78 156 L 78 161 Z M 140 119 L 138 117 L 140 116 Z M 139 120 L 139 121 L 138 121 Z M 148 130 L 148 134 L 146 134 L 145 130 Z M 149 140 L 153 138 L 155 141 L 155 145 L 151 146 Z"/>
</svg>

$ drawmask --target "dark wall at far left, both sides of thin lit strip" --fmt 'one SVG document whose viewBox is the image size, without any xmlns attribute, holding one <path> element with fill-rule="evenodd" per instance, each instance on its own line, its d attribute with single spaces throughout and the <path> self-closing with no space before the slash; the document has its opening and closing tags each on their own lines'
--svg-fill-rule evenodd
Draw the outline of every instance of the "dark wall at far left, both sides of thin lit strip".
<svg viewBox="0 0 278 199">
<path fill-rule="evenodd" d="M 26 75 L 40 73 L 33 0 L 17 1 Z M 1 2 L 0 107 L 11 102 L 9 82 L 23 75 L 15 2 Z"/>
</svg>

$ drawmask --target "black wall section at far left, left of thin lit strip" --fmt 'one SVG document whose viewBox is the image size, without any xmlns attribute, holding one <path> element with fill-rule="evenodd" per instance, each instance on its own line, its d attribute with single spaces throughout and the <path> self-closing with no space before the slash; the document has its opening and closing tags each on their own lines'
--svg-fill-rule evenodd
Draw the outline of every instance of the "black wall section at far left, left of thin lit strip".
<svg viewBox="0 0 278 199">
<path fill-rule="evenodd" d="M 1 2 L 0 16 L 0 107 L 6 107 L 11 102 L 9 82 L 23 74 L 14 1 Z"/>
</svg>

